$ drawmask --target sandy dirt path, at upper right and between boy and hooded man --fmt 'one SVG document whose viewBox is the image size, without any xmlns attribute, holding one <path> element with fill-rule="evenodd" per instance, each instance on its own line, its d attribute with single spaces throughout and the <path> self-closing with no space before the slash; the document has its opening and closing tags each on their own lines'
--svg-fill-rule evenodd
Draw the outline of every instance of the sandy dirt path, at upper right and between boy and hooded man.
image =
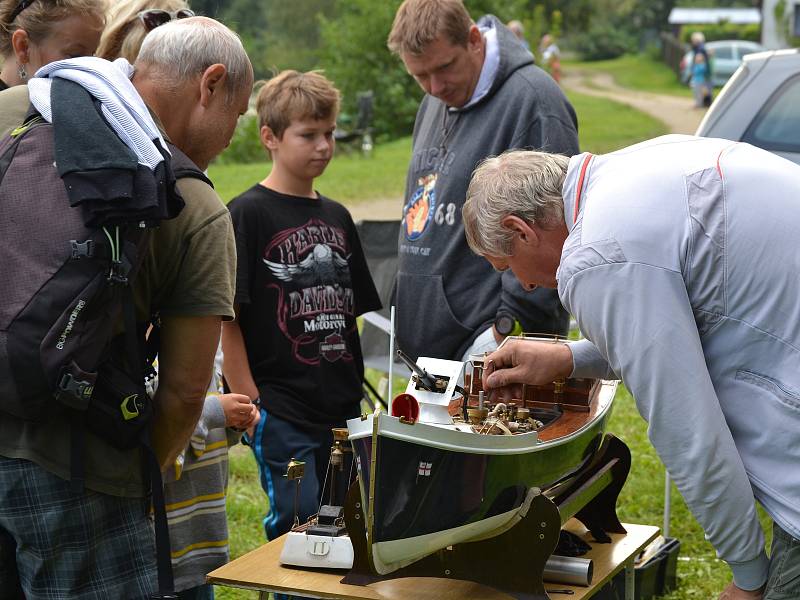
<svg viewBox="0 0 800 600">
<path fill-rule="evenodd" d="M 562 85 L 587 96 L 608 98 L 620 104 L 627 104 L 662 121 L 671 133 L 692 134 L 703 118 L 702 110 L 692 108 L 691 98 L 623 88 L 607 73 L 568 71 L 564 74 Z M 384 221 L 399 219 L 402 204 L 401 198 L 381 198 L 351 204 L 348 208 L 355 221 Z"/>
</svg>

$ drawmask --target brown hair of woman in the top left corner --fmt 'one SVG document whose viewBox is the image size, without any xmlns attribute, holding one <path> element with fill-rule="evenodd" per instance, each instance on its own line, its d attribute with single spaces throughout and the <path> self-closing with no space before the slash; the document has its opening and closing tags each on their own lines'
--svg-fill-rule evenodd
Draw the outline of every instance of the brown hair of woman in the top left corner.
<svg viewBox="0 0 800 600">
<path fill-rule="evenodd" d="M 0 0 L 0 56 L 8 57 L 14 51 L 11 36 L 17 29 L 24 30 L 30 40 L 38 44 L 47 38 L 64 19 L 72 16 L 94 17 L 105 23 L 106 0 L 36 0 L 25 7 L 12 20 L 19 0 Z"/>
</svg>

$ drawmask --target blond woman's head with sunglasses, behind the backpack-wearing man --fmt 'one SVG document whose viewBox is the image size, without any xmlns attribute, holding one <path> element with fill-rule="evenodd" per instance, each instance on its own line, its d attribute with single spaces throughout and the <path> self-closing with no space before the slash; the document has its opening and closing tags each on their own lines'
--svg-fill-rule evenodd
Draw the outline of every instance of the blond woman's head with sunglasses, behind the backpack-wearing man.
<svg viewBox="0 0 800 600">
<path fill-rule="evenodd" d="M 144 37 L 159 25 L 185 19 L 194 12 L 183 0 L 123 0 L 111 7 L 97 56 L 106 60 L 136 60 Z"/>
</svg>

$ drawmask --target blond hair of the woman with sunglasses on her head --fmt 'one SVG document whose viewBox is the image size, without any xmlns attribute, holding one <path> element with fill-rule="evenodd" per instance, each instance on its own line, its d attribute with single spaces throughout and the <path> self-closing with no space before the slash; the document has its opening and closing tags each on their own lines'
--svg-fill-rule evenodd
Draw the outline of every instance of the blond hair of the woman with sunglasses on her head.
<svg viewBox="0 0 800 600">
<path fill-rule="evenodd" d="M 161 9 L 174 12 L 189 8 L 183 0 L 121 0 L 109 11 L 108 24 L 100 37 L 96 56 L 106 60 L 125 58 L 134 63 L 144 37 L 149 33 L 139 19 L 143 10 Z"/>
</svg>

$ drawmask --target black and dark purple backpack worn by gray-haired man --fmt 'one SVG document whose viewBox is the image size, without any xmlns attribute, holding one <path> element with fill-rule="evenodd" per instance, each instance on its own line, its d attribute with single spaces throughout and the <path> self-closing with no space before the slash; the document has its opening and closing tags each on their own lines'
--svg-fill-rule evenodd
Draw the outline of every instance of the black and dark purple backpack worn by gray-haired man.
<svg viewBox="0 0 800 600">
<path fill-rule="evenodd" d="M 159 190 L 153 205 L 130 205 L 124 194 L 78 203 L 77 188 L 86 192 L 94 175 L 59 175 L 55 137 L 54 127 L 31 109 L 24 124 L 0 140 L 0 413 L 41 422 L 54 402 L 66 406 L 72 481 L 80 489 L 84 428 L 117 448 L 143 448 L 159 588 L 170 597 L 169 537 L 144 384 L 157 348 L 146 351 L 148 324 L 136 322 L 132 284 L 153 227 L 183 207 L 175 180 L 210 181 L 169 145 L 172 157 L 165 154 L 155 181 L 146 167 L 135 176 L 147 190 Z M 108 173 L 102 177 L 115 181 Z"/>
</svg>

